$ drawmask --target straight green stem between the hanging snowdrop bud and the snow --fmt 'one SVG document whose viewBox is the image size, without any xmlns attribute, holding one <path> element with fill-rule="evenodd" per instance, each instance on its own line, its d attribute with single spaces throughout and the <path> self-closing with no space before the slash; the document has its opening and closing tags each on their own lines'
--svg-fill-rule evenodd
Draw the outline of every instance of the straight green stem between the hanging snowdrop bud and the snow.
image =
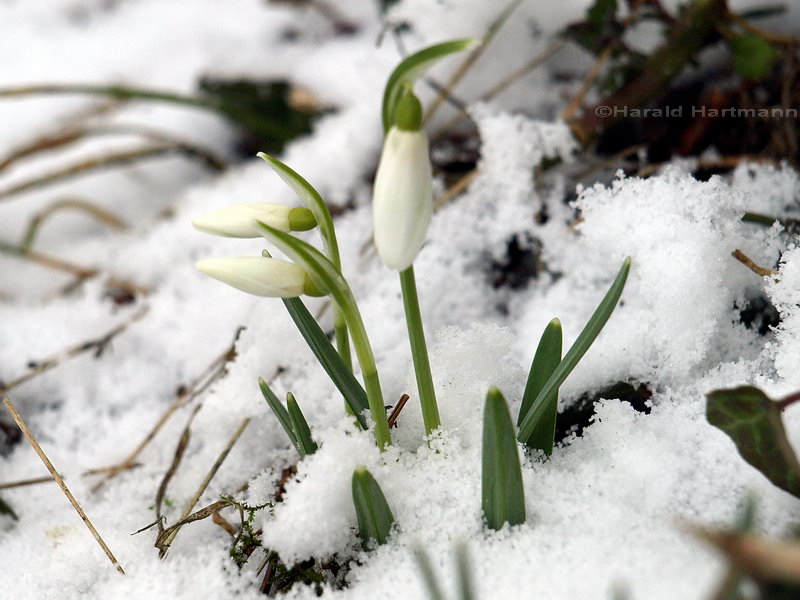
<svg viewBox="0 0 800 600">
<path fill-rule="evenodd" d="M 439 420 L 439 407 L 436 404 L 436 392 L 433 389 L 431 364 L 428 360 L 428 347 L 425 344 L 425 331 L 422 327 L 422 314 L 419 310 L 413 265 L 405 271 L 400 271 L 400 287 L 403 290 L 403 308 L 406 312 L 408 339 L 411 342 L 411 357 L 414 360 L 414 374 L 417 378 L 422 420 L 425 423 L 425 433 L 430 435 L 439 428 L 441 421 Z"/>
</svg>

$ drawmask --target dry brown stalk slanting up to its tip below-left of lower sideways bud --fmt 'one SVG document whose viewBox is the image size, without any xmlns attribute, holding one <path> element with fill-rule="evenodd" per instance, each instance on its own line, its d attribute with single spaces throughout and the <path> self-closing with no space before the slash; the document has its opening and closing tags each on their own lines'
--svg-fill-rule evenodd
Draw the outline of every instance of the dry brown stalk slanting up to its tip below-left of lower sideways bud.
<svg viewBox="0 0 800 600">
<path fill-rule="evenodd" d="M 169 421 L 172 415 L 189 404 L 197 396 L 205 392 L 212 383 L 214 383 L 225 373 L 227 364 L 236 358 L 236 341 L 239 339 L 239 335 L 241 335 L 243 330 L 243 327 L 239 327 L 234 334 L 233 341 L 231 342 L 230 346 L 228 346 L 222 354 L 217 356 L 211 362 L 211 364 L 203 370 L 200 376 L 189 384 L 188 387 L 182 386 L 179 389 L 178 397 L 175 398 L 174 402 L 172 402 L 169 407 L 167 407 L 167 410 L 159 417 L 158 421 L 156 421 L 152 429 L 150 429 L 147 435 L 145 435 L 144 439 L 139 442 L 136 448 L 134 448 L 122 462 L 110 467 L 92 469 L 91 471 L 84 473 L 84 475 L 106 474 L 106 477 L 98 481 L 97 484 L 95 484 L 95 486 L 92 488 L 93 492 L 97 492 L 100 488 L 102 488 L 109 479 L 116 477 L 119 473 L 136 466 L 136 459 L 139 457 L 139 454 L 142 453 L 142 451 L 153 440 L 158 432 L 161 431 L 161 428 L 167 423 L 167 421 Z"/>
</svg>

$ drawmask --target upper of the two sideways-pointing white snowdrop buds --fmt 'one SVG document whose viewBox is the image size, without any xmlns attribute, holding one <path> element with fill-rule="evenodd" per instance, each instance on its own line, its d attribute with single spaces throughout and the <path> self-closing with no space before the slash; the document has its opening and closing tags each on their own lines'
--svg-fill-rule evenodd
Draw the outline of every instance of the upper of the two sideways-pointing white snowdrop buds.
<svg viewBox="0 0 800 600">
<path fill-rule="evenodd" d="M 307 208 L 291 208 L 283 204 L 248 202 L 218 208 L 200 215 L 192 221 L 200 231 L 237 238 L 261 237 L 255 222 L 264 221 L 279 231 L 307 231 L 317 222 Z"/>
</svg>

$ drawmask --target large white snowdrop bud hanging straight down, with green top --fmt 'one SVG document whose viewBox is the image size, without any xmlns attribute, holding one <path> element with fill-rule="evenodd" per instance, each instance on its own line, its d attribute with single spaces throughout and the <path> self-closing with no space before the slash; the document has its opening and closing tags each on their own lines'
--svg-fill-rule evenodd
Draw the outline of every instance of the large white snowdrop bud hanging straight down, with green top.
<svg viewBox="0 0 800 600">
<path fill-rule="evenodd" d="M 433 213 L 431 177 L 422 107 L 409 91 L 386 134 L 373 190 L 375 246 L 390 269 L 410 267 L 425 242 Z"/>
</svg>

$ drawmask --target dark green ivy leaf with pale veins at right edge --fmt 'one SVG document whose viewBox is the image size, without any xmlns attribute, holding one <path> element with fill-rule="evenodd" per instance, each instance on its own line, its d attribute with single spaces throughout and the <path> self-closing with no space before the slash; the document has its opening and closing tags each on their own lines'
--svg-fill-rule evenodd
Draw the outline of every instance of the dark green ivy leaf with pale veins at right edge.
<svg viewBox="0 0 800 600">
<path fill-rule="evenodd" d="M 715 390 L 706 398 L 708 422 L 733 440 L 742 458 L 800 497 L 800 463 L 786 437 L 780 405 L 751 386 Z"/>
</svg>

